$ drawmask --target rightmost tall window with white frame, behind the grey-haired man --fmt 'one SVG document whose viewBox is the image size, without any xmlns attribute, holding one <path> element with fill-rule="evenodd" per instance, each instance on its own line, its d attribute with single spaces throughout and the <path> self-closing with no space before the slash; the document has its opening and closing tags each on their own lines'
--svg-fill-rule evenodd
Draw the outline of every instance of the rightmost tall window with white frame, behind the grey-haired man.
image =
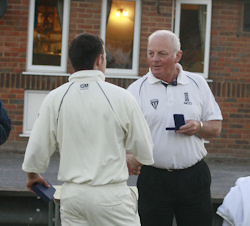
<svg viewBox="0 0 250 226">
<path fill-rule="evenodd" d="M 208 78 L 211 0 L 176 0 L 175 33 L 181 41 L 184 70 Z"/>
</svg>

